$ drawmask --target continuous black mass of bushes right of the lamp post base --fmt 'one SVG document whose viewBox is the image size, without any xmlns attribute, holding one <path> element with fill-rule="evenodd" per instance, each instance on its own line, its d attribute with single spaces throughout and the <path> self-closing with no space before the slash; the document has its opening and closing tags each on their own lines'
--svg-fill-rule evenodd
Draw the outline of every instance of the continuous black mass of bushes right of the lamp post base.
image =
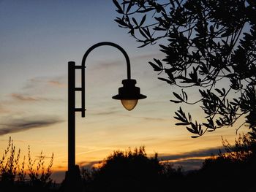
<svg viewBox="0 0 256 192">
<path fill-rule="evenodd" d="M 206 158 L 201 169 L 184 172 L 146 156 L 145 147 L 114 151 L 99 168 L 82 170 L 86 191 L 255 191 L 255 140 L 248 135 Z"/>
</svg>

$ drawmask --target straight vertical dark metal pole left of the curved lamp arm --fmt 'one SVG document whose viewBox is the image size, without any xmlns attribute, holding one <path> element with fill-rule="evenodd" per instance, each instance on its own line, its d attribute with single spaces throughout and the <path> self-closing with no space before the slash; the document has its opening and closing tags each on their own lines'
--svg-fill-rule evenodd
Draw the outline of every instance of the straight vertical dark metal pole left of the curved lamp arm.
<svg viewBox="0 0 256 192">
<path fill-rule="evenodd" d="M 68 62 L 68 171 L 75 167 L 75 62 Z"/>
</svg>

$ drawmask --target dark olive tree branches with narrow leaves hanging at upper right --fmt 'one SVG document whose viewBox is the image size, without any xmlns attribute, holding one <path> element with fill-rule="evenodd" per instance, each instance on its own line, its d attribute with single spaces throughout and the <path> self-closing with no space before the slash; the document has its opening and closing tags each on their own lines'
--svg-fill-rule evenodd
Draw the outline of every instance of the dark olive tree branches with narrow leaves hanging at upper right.
<svg viewBox="0 0 256 192">
<path fill-rule="evenodd" d="M 159 80 L 180 88 L 174 103 L 200 104 L 205 122 L 181 107 L 176 125 L 192 137 L 206 131 L 249 126 L 256 137 L 256 1 L 255 0 L 113 0 L 118 26 L 141 43 L 159 44 L 162 60 L 149 62 Z M 189 98 L 198 88 L 200 99 Z M 240 121 L 239 121 L 240 122 Z"/>
</svg>

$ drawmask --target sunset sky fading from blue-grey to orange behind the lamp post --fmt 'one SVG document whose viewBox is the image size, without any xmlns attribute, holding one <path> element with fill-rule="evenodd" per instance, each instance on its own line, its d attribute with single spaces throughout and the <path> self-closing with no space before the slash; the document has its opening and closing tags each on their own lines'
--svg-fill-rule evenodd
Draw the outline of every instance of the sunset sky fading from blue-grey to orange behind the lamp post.
<svg viewBox="0 0 256 192">
<path fill-rule="evenodd" d="M 126 50 L 132 78 L 147 99 L 132 111 L 111 99 L 126 79 L 124 55 L 114 47 L 98 47 L 86 60 L 86 118 L 76 115 L 76 164 L 91 166 L 113 150 L 145 146 L 148 155 L 198 169 L 216 153 L 222 137 L 233 142 L 236 125 L 192 139 L 175 126 L 173 91 L 148 64 L 164 58 L 157 45 L 140 44 L 119 28 L 110 0 L 0 0 L 0 155 L 11 137 L 22 155 L 54 153 L 53 179 L 67 170 L 67 62 L 77 65 L 91 45 L 114 42 Z M 77 74 L 77 86 L 80 85 Z M 198 99 L 196 89 L 189 96 Z M 80 98 L 77 97 L 77 106 Z M 184 106 L 197 119 L 200 106 Z M 241 132 L 246 128 L 241 128 Z M 47 161 L 48 158 L 46 158 Z"/>
</svg>

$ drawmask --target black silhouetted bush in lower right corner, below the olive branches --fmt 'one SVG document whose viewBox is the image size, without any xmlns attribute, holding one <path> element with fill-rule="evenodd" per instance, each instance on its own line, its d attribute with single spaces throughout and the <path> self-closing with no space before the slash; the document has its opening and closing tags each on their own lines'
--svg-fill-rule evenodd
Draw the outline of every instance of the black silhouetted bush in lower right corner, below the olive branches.
<svg viewBox="0 0 256 192">
<path fill-rule="evenodd" d="M 256 142 L 248 135 L 242 135 L 230 145 L 223 140 L 225 150 L 217 156 L 207 158 L 197 174 L 203 183 L 201 189 L 208 191 L 208 181 L 214 181 L 211 191 L 255 191 Z M 206 184 L 207 183 L 207 184 Z"/>
</svg>

